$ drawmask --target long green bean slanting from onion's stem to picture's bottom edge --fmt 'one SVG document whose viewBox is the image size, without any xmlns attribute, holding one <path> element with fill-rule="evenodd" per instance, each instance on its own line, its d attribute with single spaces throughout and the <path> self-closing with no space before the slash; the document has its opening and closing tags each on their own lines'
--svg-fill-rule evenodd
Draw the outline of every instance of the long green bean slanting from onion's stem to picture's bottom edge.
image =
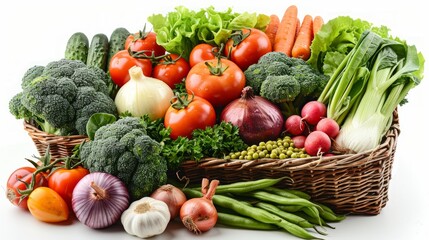
<svg viewBox="0 0 429 240">
<path fill-rule="evenodd" d="M 201 193 L 192 189 L 183 189 L 183 192 L 188 197 L 202 196 Z M 297 236 L 303 239 L 320 239 L 313 236 L 306 229 L 294 223 L 288 222 L 266 210 L 247 206 L 246 204 L 243 204 L 240 201 L 235 200 L 234 198 L 215 194 L 212 200 L 215 206 L 230 208 L 230 209 L 233 209 L 235 212 L 239 213 L 240 215 L 251 217 L 263 223 L 274 224 L 280 228 L 285 229 L 287 232 L 291 233 L 294 236 Z"/>
</svg>

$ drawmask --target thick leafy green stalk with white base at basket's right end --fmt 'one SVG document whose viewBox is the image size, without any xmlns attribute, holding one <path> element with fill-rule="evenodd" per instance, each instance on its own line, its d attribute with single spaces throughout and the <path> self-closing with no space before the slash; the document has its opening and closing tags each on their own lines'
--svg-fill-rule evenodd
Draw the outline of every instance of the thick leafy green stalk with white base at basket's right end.
<svg viewBox="0 0 429 240">
<path fill-rule="evenodd" d="M 423 62 L 415 46 L 384 39 L 370 62 L 371 74 L 365 93 L 355 111 L 346 118 L 337 144 L 354 152 L 377 147 L 391 125 L 395 108 L 420 83 Z"/>
</svg>

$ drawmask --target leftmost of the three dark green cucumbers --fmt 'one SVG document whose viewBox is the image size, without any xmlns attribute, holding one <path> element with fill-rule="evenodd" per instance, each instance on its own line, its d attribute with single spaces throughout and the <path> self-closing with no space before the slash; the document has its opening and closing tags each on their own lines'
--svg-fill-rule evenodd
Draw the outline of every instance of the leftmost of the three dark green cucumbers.
<svg viewBox="0 0 429 240">
<path fill-rule="evenodd" d="M 67 41 L 64 58 L 69 60 L 80 60 L 86 63 L 88 49 L 88 37 L 82 32 L 73 33 Z"/>
</svg>

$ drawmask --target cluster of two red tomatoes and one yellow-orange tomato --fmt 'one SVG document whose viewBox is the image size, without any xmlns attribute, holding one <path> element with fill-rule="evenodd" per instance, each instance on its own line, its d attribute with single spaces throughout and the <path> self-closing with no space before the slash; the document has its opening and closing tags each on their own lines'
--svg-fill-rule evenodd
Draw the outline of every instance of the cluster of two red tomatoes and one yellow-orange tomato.
<svg viewBox="0 0 429 240">
<path fill-rule="evenodd" d="M 61 222 L 72 212 L 72 194 L 76 184 L 89 171 L 80 165 L 71 166 L 71 158 L 51 161 L 49 155 L 33 166 L 23 166 L 7 180 L 9 201 L 44 222 Z"/>
</svg>

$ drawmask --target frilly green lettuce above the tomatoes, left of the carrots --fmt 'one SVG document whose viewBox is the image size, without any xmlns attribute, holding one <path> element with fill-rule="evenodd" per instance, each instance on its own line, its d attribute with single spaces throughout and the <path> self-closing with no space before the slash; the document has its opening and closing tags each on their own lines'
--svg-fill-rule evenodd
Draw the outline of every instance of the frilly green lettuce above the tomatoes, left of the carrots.
<svg viewBox="0 0 429 240">
<path fill-rule="evenodd" d="M 265 30 L 270 17 L 257 13 L 236 13 L 231 8 L 216 11 L 213 6 L 198 11 L 178 6 L 166 15 L 148 17 L 157 34 L 157 43 L 168 52 L 182 54 L 188 59 L 192 48 L 199 43 L 220 46 L 233 30 L 257 28 Z"/>
</svg>

